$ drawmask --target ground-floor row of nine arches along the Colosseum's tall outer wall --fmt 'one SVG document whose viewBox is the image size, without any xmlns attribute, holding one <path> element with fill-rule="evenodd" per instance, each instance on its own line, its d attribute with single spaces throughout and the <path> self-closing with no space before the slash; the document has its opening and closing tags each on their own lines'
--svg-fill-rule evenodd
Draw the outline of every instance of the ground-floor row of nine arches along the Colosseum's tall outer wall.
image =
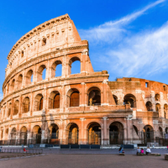
<svg viewBox="0 0 168 168">
<path fill-rule="evenodd" d="M 91 122 L 87 125 L 87 142 L 88 144 L 101 144 L 101 125 L 98 122 Z M 51 141 L 60 139 L 59 127 L 57 124 L 51 124 L 49 129 L 49 139 Z M 35 125 L 32 129 L 31 136 L 28 136 L 28 129 L 23 126 L 18 133 L 16 128 L 12 128 L 10 132 L 10 140 L 16 140 L 18 137 L 20 141 L 27 142 L 30 139 L 35 143 L 41 143 L 42 130 L 39 125 Z M 30 132 L 29 132 L 30 133 Z M 9 129 L 5 130 L 5 138 L 9 137 Z M 1 139 L 3 133 L 1 132 Z M 122 144 L 124 140 L 124 127 L 120 122 L 113 122 L 109 126 L 109 142 L 110 144 Z M 79 143 L 79 126 L 76 123 L 69 123 L 66 127 L 66 143 Z"/>
</svg>

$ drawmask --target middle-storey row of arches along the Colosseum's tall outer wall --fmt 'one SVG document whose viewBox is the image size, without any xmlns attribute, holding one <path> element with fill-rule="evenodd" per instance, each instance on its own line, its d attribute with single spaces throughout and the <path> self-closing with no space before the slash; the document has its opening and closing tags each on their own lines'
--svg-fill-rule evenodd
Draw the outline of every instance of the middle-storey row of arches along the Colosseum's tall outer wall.
<svg viewBox="0 0 168 168">
<path fill-rule="evenodd" d="M 61 95 L 58 91 L 52 91 L 47 98 L 48 109 L 57 109 L 60 108 Z M 76 88 L 72 88 L 67 92 L 67 107 L 78 107 L 80 105 L 80 92 Z M 91 87 L 88 89 L 88 106 L 101 105 L 101 91 L 97 87 Z M 21 107 L 20 107 L 21 106 Z M 14 102 L 14 111 L 13 115 L 17 115 L 21 109 L 22 113 L 27 113 L 31 108 L 31 99 L 29 96 L 25 97 L 22 101 L 22 104 L 19 103 L 19 100 Z M 43 94 L 37 94 L 33 99 L 33 111 L 41 111 L 45 109 L 44 107 L 44 96 Z M 4 107 L 4 111 L 6 107 Z M 12 103 L 8 103 L 7 117 L 11 115 Z"/>
</svg>

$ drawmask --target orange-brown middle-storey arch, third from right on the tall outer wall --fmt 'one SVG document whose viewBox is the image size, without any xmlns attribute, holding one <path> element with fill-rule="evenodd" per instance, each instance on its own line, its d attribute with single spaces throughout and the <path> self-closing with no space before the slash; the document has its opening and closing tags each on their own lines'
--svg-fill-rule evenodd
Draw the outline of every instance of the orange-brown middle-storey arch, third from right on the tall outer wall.
<svg viewBox="0 0 168 168">
<path fill-rule="evenodd" d="M 60 108 L 60 94 L 58 91 L 53 91 L 49 97 L 49 109 Z"/>
</svg>

